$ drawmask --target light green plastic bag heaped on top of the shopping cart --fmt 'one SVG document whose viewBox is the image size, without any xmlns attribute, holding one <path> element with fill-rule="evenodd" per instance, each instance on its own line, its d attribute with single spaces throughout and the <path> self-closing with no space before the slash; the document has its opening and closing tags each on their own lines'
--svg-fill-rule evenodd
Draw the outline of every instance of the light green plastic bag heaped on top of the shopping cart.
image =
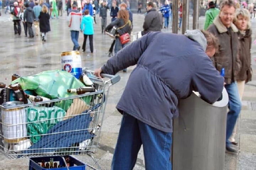
<svg viewBox="0 0 256 170">
<path fill-rule="evenodd" d="M 39 96 L 50 99 L 65 98 L 75 96 L 67 92 L 67 89 L 85 87 L 85 85 L 68 72 L 60 70 L 45 71 L 28 77 L 20 77 L 11 84 L 20 83 L 23 90 L 34 90 Z M 87 104 L 90 103 L 91 96 L 83 97 Z M 68 110 L 73 100 L 63 100 L 56 102 L 55 106 Z"/>
</svg>

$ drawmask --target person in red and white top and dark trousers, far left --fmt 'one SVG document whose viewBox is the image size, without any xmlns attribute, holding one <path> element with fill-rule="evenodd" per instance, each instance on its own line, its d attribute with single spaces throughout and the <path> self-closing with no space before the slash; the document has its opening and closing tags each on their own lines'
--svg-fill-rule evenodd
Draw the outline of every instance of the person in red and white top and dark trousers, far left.
<svg viewBox="0 0 256 170">
<path fill-rule="evenodd" d="M 20 25 L 20 12 L 21 9 L 18 6 L 18 2 L 14 2 L 14 8 L 12 8 L 11 14 L 13 15 L 14 22 L 14 34 L 21 34 L 21 25 Z"/>
</svg>

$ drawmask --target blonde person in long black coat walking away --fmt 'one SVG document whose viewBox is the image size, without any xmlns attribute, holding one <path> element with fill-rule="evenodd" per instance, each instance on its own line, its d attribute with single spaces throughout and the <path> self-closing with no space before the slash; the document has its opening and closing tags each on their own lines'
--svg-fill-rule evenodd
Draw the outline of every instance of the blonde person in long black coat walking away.
<svg viewBox="0 0 256 170">
<path fill-rule="evenodd" d="M 42 41 L 46 42 L 47 40 L 47 33 L 50 31 L 50 15 L 48 13 L 48 7 L 43 5 L 42 11 L 40 12 L 39 18 L 39 27 L 40 32 L 42 34 Z"/>
</svg>

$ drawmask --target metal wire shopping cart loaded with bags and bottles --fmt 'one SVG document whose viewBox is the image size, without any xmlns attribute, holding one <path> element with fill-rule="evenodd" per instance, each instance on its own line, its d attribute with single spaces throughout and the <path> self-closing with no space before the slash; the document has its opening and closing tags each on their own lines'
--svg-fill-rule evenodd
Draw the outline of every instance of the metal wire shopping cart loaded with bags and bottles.
<svg viewBox="0 0 256 170">
<path fill-rule="evenodd" d="M 110 86 L 120 76 L 101 74 L 102 79 L 86 68 L 83 72 L 96 92 L 14 107 L 0 105 L 0 152 L 8 158 L 87 154 L 101 169 L 92 153 L 98 148 Z"/>
</svg>

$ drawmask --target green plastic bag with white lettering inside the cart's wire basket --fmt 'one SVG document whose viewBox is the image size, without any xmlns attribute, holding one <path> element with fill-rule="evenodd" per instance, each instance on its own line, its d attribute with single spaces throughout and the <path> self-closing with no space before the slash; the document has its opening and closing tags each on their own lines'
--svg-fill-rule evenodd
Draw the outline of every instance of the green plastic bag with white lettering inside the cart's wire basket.
<svg viewBox="0 0 256 170">
<path fill-rule="evenodd" d="M 66 112 L 59 107 L 27 107 L 27 134 L 32 143 L 40 140 L 41 135 L 63 120 Z"/>
</svg>

